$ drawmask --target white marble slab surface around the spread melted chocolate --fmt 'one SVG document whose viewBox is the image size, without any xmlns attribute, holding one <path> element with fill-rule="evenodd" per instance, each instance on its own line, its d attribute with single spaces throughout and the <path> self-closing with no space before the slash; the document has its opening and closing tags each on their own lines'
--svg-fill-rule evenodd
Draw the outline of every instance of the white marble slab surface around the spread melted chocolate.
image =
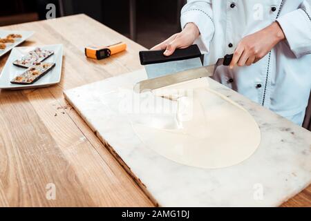
<svg viewBox="0 0 311 221">
<path fill-rule="evenodd" d="M 225 169 L 198 169 L 145 147 L 129 116 L 117 111 L 118 88 L 131 90 L 145 78 L 140 70 L 67 90 L 65 95 L 160 206 L 279 206 L 311 183 L 311 133 L 211 79 L 211 88 L 256 119 L 262 140 L 254 155 Z"/>
</svg>

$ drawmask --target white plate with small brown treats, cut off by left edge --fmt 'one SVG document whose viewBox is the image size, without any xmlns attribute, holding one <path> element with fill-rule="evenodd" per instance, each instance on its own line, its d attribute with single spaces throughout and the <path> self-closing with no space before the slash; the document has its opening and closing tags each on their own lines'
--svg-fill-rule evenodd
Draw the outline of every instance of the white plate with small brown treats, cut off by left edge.
<svg viewBox="0 0 311 221">
<path fill-rule="evenodd" d="M 0 57 L 31 37 L 34 33 L 26 30 L 0 30 Z"/>
</svg>

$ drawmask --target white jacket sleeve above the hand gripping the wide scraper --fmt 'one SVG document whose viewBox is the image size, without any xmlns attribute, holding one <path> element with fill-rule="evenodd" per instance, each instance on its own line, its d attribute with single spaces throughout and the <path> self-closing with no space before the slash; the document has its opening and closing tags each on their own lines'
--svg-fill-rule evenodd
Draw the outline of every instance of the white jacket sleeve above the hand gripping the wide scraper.
<svg viewBox="0 0 311 221">
<path fill-rule="evenodd" d="M 200 37 L 195 44 L 198 44 L 202 53 L 209 52 L 209 45 L 215 32 L 211 0 L 188 0 L 182 8 L 180 23 L 182 29 L 187 23 L 195 23 L 200 30 Z"/>
</svg>

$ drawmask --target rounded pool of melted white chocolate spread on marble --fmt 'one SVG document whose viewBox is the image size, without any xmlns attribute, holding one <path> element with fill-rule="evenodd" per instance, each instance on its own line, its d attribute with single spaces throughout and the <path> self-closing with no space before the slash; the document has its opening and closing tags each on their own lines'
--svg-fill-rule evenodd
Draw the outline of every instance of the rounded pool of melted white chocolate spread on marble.
<svg viewBox="0 0 311 221">
<path fill-rule="evenodd" d="M 178 97 L 176 90 L 168 90 L 174 88 L 190 88 L 191 92 Z M 219 169 L 247 160 L 258 148 L 261 133 L 252 115 L 207 85 L 202 87 L 202 79 L 154 92 L 183 106 L 183 113 L 176 108 L 176 113 L 149 115 L 143 123 L 132 122 L 132 126 L 144 145 L 167 159 Z"/>
</svg>

